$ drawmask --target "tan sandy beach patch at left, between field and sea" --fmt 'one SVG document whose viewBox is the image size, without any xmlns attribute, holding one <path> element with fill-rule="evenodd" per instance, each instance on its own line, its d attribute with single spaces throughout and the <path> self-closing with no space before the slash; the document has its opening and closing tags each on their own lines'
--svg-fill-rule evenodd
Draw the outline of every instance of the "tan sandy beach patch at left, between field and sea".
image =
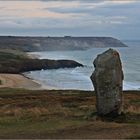
<svg viewBox="0 0 140 140">
<path fill-rule="evenodd" d="M 31 90 L 41 89 L 41 85 L 20 74 L 0 74 L 0 88 L 25 88 Z"/>
</svg>

